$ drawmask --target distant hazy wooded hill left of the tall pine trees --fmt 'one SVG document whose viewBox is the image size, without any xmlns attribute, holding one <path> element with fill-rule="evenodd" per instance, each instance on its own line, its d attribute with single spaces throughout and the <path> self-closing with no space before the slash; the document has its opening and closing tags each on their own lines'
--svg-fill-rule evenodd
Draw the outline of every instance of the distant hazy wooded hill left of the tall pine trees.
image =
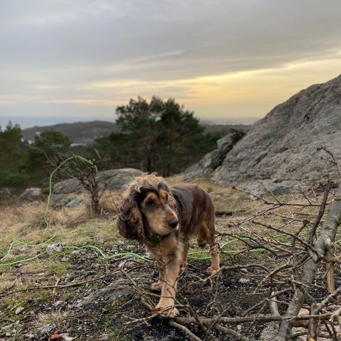
<svg viewBox="0 0 341 341">
<path fill-rule="evenodd" d="M 112 131 L 119 132 L 117 125 L 109 121 L 75 122 L 23 129 L 23 139 L 33 141 L 37 133 L 45 130 L 60 131 L 60 133 L 68 136 L 74 144 L 90 144 L 94 139 L 108 136 Z"/>
</svg>

